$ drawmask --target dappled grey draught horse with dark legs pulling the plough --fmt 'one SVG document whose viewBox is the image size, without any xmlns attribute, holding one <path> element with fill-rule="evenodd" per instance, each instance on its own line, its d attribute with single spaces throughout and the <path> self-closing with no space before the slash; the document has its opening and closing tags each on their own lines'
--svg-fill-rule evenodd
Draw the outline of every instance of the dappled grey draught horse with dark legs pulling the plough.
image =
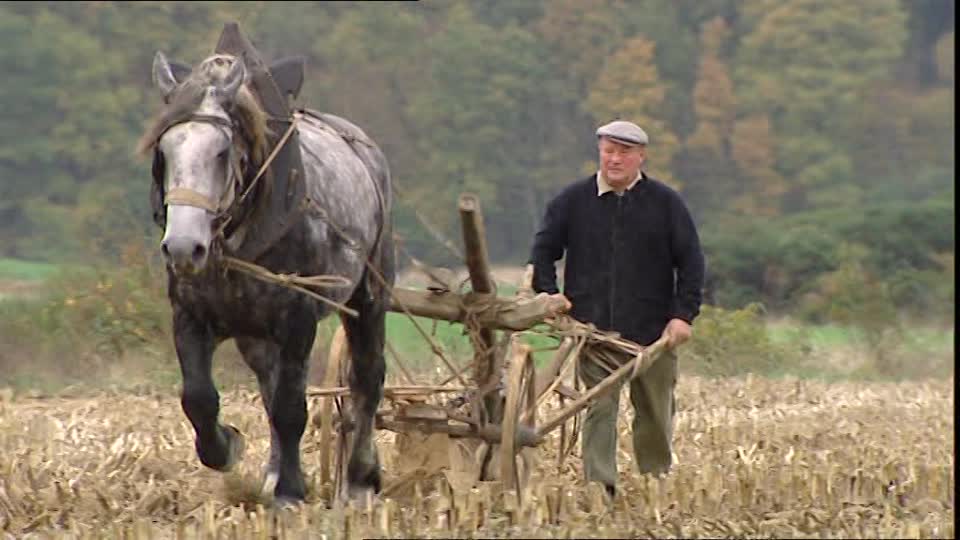
<svg viewBox="0 0 960 540">
<path fill-rule="evenodd" d="M 181 404 L 196 432 L 197 454 L 204 465 L 226 471 L 242 453 L 240 433 L 218 418 L 219 395 L 211 374 L 214 349 L 232 337 L 257 376 L 270 419 L 266 487 L 275 486 L 279 501 L 302 500 L 299 446 L 307 420 L 308 356 L 317 322 L 332 308 L 300 292 L 225 271 L 218 255 L 243 243 L 244 228 L 256 225 L 245 223 L 255 215 L 245 205 L 257 204 L 270 189 L 269 179 L 262 178 L 252 197 L 237 204 L 272 150 L 267 116 L 250 90 L 244 62 L 234 56 L 215 54 L 178 81 L 171 64 L 157 53 L 153 79 L 167 105 L 140 148 L 154 152 L 159 196 L 153 203 L 155 219 L 164 226 L 161 249 L 183 375 Z M 339 131 L 369 141 L 353 124 L 332 118 Z M 372 435 L 383 393 L 388 292 L 372 286 L 365 261 L 376 261 L 392 286 L 390 172 L 376 145 L 351 148 L 329 122 L 303 116 L 299 137 L 303 181 L 313 206 L 255 262 L 275 273 L 332 274 L 349 281 L 346 287 L 322 291 L 359 313 L 342 316 L 352 354 L 355 415 L 347 482 L 354 495 L 357 490 L 379 491 Z M 218 235 L 225 214 L 231 217 L 230 227 Z"/>
</svg>

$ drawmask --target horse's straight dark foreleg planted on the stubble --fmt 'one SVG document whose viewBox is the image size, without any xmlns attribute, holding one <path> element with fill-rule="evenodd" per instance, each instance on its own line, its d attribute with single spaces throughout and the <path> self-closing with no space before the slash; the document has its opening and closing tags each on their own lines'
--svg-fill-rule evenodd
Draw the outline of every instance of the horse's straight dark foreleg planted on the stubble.
<svg viewBox="0 0 960 540">
<path fill-rule="evenodd" d="M 307 370 L 310 349 L 317 333 L 317 319 L 304 304 L 290 309 L 288 328 L 276 364 L 276 389 L 270 406 L 270 424 L 280 447 L 277 499 L 300 501 L 306 496 L 306 483 L 300 467 L 300 439 L 307 424 Z"/>
</svg>

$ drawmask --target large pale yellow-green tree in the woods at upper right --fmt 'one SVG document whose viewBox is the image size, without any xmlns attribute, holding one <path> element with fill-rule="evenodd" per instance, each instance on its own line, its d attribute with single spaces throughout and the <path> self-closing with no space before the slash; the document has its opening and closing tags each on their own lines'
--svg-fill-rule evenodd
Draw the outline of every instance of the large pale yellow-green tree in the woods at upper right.
<svg viewBox="0 0 960 540">
<path fill-rule="evenodd" d="M 903 51 L 901 4 L 795 0 L 756 11 L 738 51 L 737 88 L 746 114 L 770 115 L 778 172 L 793 191 L 786 202 L 856 203 L 864 186 L 838 135 L 844 111 Z"/>
</svg>

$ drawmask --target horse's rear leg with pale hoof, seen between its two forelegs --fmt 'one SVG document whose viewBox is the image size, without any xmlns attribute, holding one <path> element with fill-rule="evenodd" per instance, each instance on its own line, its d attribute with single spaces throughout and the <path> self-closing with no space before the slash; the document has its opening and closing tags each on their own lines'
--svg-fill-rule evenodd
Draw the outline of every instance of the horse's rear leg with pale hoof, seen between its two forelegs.
<svg viewBox="0 0 960 540">
<path fill-rule="evenodd" d="M 273 396 L 277 388 L 279 374 L 280 347 L 271 341 L 238 337 L 237 349 L 243 360 L 257 375 L 260 385 L 260 400 L 270 423 L 270 460 L 263 474 L 263 487 L 273 492 L 280 480 L 280 438 L 273 425 Z"/>
</svg>

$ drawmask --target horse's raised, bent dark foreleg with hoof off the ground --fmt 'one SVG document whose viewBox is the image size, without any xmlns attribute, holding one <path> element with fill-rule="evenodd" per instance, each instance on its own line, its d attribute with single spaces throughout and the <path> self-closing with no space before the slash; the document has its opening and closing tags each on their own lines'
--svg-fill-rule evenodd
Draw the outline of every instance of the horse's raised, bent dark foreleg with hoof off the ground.
<svg viewBox="0 0 960 540">
<path fill-rule="evenodd" d="M 218 420 L 220 395 L 213 383 L 213 333 L 186 311 L 174 308 L 173 339 L 183 375 L 180 404 L 196 433 L 197 456 L 207 467 L 227 471 L 243 453 L 243 437 L 236 428 Z"/>
</svg>

